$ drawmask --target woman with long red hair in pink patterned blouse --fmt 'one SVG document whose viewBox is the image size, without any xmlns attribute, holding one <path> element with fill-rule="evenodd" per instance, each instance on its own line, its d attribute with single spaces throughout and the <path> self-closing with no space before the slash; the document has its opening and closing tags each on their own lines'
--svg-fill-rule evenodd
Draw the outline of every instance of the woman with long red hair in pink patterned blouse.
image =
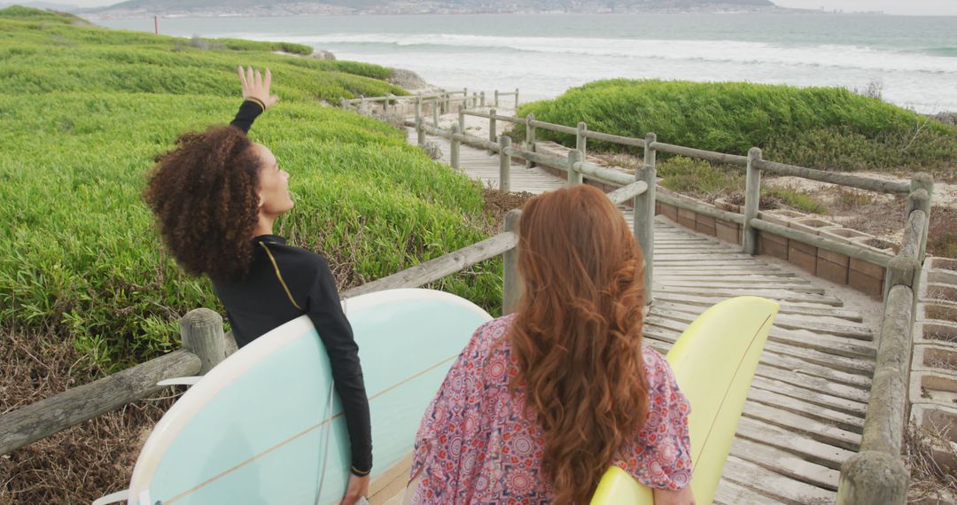
<svg viewBox="0 0 957 505">
<path fill-rule="evenodd" d="M 407 503 L 588 503 L 621 467 L 691 505 L 687 400 L 641 343 L 641 252 L 598 189 L 529 200 L 523 296 L 476 331 L 422 418 Z"/>
</svg>

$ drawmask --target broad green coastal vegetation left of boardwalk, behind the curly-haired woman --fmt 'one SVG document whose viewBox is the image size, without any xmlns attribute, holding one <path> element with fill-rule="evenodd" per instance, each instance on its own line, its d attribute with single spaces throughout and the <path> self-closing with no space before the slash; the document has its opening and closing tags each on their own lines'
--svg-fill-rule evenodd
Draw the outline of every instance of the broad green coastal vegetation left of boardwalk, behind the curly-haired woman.
<svg viewBox="0 0 957 505">
<path fill-rule="evenodd" d="M 297 207 L 277 232 L 324 253 L 342 289 L 487 236 L 477 184 L 408 145 L 404 131 L 323 106 L 407 94 L 382 80 L 389 69 L 276 51 L 306 52 L 0 11 L 4 331 L 72 341 L 108 373 L 176 348 L 190 309 L 220 308 L 208 280 L 163 252 L 141 194 L 153 158 L 179 133 L 232 120 L 240 64 L 270 68 L 281 97 L 251 132 L 292 174 Z M 493 309 L 496 267 L 441 288 Z"/>
</svg>

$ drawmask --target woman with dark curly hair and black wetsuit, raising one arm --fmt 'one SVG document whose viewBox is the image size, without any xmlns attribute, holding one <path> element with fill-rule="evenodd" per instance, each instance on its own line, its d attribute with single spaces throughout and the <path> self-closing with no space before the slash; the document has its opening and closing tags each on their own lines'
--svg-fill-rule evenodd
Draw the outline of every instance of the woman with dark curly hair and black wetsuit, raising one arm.
<svg viewBox="0 0 957 505">
<path fill-rule="evenodd" d="M 343 401 L 352 475 L 343 505 L 368 491 L 372 443 L 359 347 L 323 256 L 273 234 L 293 209 L 289 174 L 265 145 L 246 133 L 278 101 L 272 74 L 239 67 L 243 101 L 230 126 L 186 133 L 157 157 L 146 204 L 167 250 L 189 274 L 209 275 L 241 347 L 279 325 L 308 315 L 323 339 Z"/>
</svg>

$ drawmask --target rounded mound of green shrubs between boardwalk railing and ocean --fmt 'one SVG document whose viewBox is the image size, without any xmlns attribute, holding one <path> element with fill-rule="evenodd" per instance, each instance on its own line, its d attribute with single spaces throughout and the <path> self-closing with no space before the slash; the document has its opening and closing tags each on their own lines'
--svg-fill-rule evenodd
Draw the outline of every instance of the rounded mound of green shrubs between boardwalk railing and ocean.
<svg viewBox="0 0 957 505">
<path fill-rule="evenodd" d="M 566 125 L 586 121 L 590 130 L 615 135 L 655 132 L 659 142 L 729 154 L 758 146 L 765 159 L 820 169 L 923 169 L 952 176 L 957 152 L 957 127 L 843 88 L 611 79 L 526 103 L 519 115 L 529 113 Z M 574 145 L 570 135 L 536 134 Z"/>
</svg>

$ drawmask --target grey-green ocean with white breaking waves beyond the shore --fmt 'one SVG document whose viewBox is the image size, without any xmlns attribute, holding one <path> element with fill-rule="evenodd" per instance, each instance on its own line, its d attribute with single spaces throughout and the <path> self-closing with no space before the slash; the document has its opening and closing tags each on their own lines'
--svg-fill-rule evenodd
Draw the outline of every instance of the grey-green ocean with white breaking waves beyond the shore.
<svg viewBox="0 0 957 505">
<path fill-rule="evenodd" d="M 100 20 L 153 31 L 152 18 Z M 398 67 L 447 89 L 523 101 L 628 77 L 878 86 L 922 113 L 957 111 L 957 17 L 856 14 L 476 14 L 160 19 L 172 35 L 281 40 Z"/>
</svg>

